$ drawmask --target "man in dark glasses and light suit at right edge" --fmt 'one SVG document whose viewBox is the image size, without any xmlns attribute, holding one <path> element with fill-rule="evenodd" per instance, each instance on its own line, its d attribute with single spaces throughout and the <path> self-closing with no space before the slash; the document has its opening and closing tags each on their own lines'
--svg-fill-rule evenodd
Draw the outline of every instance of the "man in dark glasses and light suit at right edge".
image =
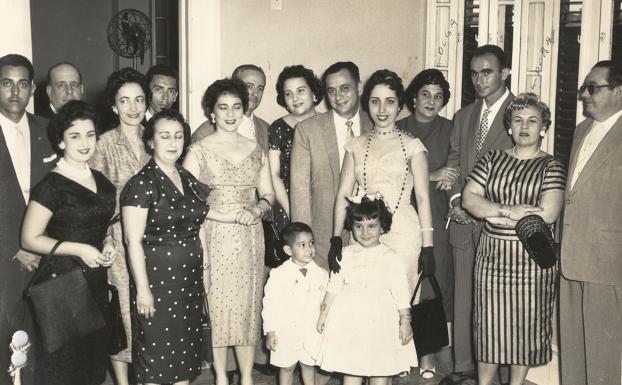
<svg viewBox="0 0 622 385">
<path fill-rule="evenodd" d="M 579 88 L 562 225 L 562 384 L 620 384 L 622 63 L 597 63 Z"/>
</svg>

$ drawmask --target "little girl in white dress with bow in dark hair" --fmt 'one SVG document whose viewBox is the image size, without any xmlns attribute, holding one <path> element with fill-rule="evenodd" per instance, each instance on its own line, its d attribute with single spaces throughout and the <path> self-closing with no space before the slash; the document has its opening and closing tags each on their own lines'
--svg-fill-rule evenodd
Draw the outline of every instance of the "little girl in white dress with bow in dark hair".
<svg viewBox="0 0 622 385">
<path fill-rule="evenodd" d="M 360 385 L 363 377 L 372 377 L 371 385 L 388 384 L 417 366 L 404 266 L 380 242 L 391 219 L 378 193 L 350 199 L 345 225 L 357 243 L 343 249 L 317 322 L 324 333 L 318 365 L 344 373 L 344 385 Z"/>
</svg>

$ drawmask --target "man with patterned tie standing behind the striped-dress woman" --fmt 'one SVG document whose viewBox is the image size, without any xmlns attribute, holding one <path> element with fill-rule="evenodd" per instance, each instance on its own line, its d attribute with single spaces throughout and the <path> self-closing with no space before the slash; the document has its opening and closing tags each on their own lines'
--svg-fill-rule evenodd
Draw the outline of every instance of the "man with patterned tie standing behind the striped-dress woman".
<svg viewBox="0 0 622 385">
<path fill-rule="evenodd" d="M 483 223 L 470 217 L 461 206 L 461 192 L 477 160 L 493 149 L 512 147 L 503 126 L 503 112 L 514 95 L 506 87 L 510 75 L 503 50 L 484 45 L 471 59 L 471 81 L 477 100 L 456 112 L 450 139 L 448 167 L 460 169 L 460 177 L 449 190 L 449 242 L 453 247 L 454 297 L 454 373 L 441 384 L 458 384 L 475 376 L 473 359 L 473 267 L 475 250 Z"/>
</svg>

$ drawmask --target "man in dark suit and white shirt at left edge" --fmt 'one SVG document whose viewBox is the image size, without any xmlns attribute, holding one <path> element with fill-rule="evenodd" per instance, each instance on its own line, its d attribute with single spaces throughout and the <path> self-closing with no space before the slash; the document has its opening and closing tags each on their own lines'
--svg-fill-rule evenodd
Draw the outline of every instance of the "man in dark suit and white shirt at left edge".
<svg viewBox="0 0 622 385">
<path fill-rule="evenodd" d="M 39 256 L 20 248 L 20 232 L 30 189 L 49 171 L 56 155 L 47 138 L 47 119 L 26 113 L 34 92 L 28 59 L 0 58 L 0 366 L 9 364 L 8 345 L 16 330 L 32 335 L 32 319 L 23 291 Z M 32 365 L 22 372 L 32 383 Z M 11 384 L 0 370 L 0 384 Z"/>
</svg>

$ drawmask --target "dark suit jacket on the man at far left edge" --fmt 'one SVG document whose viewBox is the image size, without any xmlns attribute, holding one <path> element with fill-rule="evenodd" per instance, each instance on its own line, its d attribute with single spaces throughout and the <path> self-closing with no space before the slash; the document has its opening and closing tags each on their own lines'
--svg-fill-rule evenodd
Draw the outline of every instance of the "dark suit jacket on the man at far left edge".
<svg viewBox="0 0 622 385">
<path fill-rule="evenodd" d="M 30 187 L 31 189 L 56 163 L 56 154 L 47 137 L 48 120 L 27 114 L 30 129 Z M 28 202 L 13 168 L 11 155 L 0 130 L 0 312 L 13 312 L 21 301 L 22 290 L 32 273 L 22 271 L 13 256 L 20 249 L 22 220 Z"/>
</svg>

